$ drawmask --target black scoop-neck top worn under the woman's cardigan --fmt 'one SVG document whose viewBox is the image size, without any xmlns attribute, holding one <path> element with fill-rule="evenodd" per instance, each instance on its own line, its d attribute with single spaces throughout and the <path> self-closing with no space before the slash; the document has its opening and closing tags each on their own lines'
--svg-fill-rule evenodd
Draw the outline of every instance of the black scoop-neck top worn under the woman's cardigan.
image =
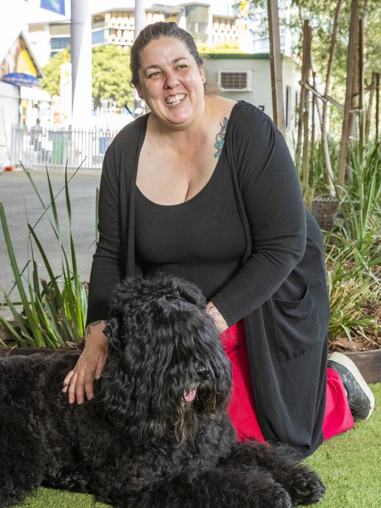
<svg viewBox="0 0 381 508">
<path fill-rule="evenodd" d="M 209 301 L 237 273 L 245 247 L 224 150 L 207 184 L 185 203 L 153 203 L 137 187 L 135 248 L 145 275 L 182 277 Z"/>
</svg>

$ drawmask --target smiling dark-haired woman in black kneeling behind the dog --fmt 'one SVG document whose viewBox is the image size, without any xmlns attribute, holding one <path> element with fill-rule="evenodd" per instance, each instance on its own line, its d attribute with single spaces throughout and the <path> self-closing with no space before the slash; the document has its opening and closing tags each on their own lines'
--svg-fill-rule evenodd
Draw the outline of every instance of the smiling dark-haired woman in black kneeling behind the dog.
<svg viewBox="0 0 381 508">
<path fill-rule="evenodd" d="M 131 71 L 151 113 L 105 156 L 86 345 L 63 390 L 70 402 L 92 397 L 114 285 L 167 271 L 207 298 L 233 365 L 238 437 L 288 442 L 306 456 L 354 419 L 340 375 L 327 369 L 323 238 L 284 139 L 254 106 L 207 93 L 195 43 L 175 23 L 141 31 Z"/>
</svg>

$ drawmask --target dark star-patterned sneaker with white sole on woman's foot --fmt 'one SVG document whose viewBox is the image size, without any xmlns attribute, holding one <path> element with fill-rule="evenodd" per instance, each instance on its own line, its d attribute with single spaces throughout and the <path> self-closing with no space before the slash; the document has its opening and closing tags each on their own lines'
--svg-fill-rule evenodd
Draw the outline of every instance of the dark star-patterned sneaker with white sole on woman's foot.
<svg viewBox="0 0 381 508">
<path fill-rule="evenodd" d="M 368 420 L 374 408 L 374 396 L 353 361 L 341 353 L 332 353 L 328 367 L 340 374 L 352 413 L 359 420 Z"/>
</svg>

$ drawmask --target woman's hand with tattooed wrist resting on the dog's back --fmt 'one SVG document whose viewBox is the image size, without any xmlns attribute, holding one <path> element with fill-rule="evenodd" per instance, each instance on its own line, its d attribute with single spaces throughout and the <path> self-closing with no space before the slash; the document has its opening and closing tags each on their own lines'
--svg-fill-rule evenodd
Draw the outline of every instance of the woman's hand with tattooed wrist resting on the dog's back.
<svg viewBox="0 0 381 508">
<path fill-rule="evenodd" d="M 94 395 L 94 379 L 99 379 L 105 365 L 108 351 L 108 338 L 103 333 L 104 321 L 94 321 L 86 328 L 85 348 L 73 370 L 63 380 L 63 393 L 69 392 L 69 402 L 78 404 Z"/>
</svg>

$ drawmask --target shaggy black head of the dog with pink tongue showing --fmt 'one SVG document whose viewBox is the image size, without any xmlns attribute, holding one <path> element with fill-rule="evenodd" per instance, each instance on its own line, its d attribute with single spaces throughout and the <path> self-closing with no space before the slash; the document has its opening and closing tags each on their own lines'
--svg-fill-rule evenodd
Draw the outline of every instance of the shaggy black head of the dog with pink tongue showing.
<svg viewBox="0 0 381 508">
<path fill-rule="evenodd" d="M 118 425 L 144 436 L 173 428 L 195 435 L 223 408 L 231 365 L 195 285 L 160 274 L 118 284 L 105 334 L 109 355 L 97 403 Z"/>
</svg>

